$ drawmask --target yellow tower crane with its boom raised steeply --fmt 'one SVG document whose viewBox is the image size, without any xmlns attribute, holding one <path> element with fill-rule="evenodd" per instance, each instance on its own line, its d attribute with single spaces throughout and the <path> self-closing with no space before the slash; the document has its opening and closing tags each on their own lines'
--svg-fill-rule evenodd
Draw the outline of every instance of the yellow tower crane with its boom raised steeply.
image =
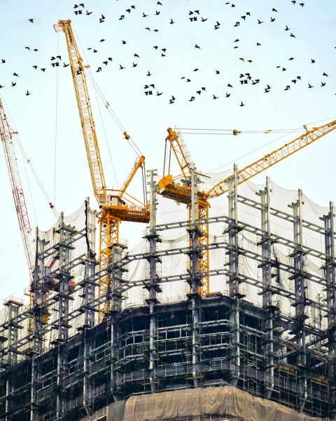
<svg viewBox="0 0 336 421">
<path fill-rule="evenodd" d="M 139 168 L 142 170 L 144 182 L 144 156 L 134 164 L 130 175 L 125 180 L 122 189 L 108 189 L 106 187 L 102 159 L 100 156 L 97 133 L 94 125 L 90 97 L 87 91 L 85 68 L 83 59 L 80 56 L 76 44 L 71 20 L 59 20 L 54 25 L 56 32 L 63 31 L 66 37 L 66 46 L 69 53 L 73 87 L 75 88 L 76 101 L 80 116 L 80 123 L 83 131 L 87 161 L 90 168 L 92 187 L 94 196 L 97 199 L 101 215 L 99 218 L 99 262 L 100 269 L 109 267 L 113 245 L 120 245 L 119 226 L 122 221 L 144 222 L 148 223 L 150 219 L 149 205 L 146 203 L 146 194 L 144 194 L 144 203 L 127 194 L 127 187 L 132 182 L 134 175 Z M 126 140 L 130 135 L 123 133 Z M 109 290 L 109 276 L 99 284 L 99 298 Z M 111 310 L 110 303 L 106 300 L 104 312 Z"/>
</svg>

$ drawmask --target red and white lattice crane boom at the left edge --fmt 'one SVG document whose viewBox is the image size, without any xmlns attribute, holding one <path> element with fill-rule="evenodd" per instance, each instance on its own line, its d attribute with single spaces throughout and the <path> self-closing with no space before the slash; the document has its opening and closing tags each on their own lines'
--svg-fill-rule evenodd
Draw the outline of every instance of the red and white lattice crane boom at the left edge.
<svg viewBox="0 0 336 421">
<path fill-rule="evenodd" d="M 8 175 L 10 179 L 10 186 L 12 187 L 15 210 L 16 210 L 16 215 L 18 216 L 20 232 L 22 236 L 23 246 L 25 249 L 27 265 L 29 268 L 30 280 L 32 281 L 32 273 L 34 271 L 35 248 L 34 248 L 33 236 L 31 233 L 31 227 L 30 227 L 30 222 L 29 222 L 29 217 L 28 217 L 25 195 L 23 194 L 22 183 L 21 183 L 20 173 L 18 169 L 18 161 L 15 156 L 13 134 L 15 134 L 15 132 L 13 132 L 10 129 L 5 111 L 3 109 L 2 102 L 0 100 L 0 135 L 1 135 L 1 140 L 2 140 L 3 150 L 6 156 L 6 164 L 7 164 Z"/>
</svg>

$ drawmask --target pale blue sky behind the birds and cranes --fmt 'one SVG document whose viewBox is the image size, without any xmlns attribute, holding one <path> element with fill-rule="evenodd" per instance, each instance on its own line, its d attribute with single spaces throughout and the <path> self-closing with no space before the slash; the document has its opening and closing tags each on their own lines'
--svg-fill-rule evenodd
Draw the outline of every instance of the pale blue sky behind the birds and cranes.
<svg viewBox="0 0 336 421">
<path fill-rule="evenodd" d="M 0 0 L 0 85 L 4 86 L 0 95 L 43 186 L 52 200 L 55 195 L 57 210 L 72 213 L 87 195 L 92 197 L 92 206 L 95 203 L 70 69 L 62 67 L 63 62 L 69 62 L 65 37 L 52 29 L 59 19 L 73 21 L 78 42 L 83 46 L 83 59 L 90 64 L 94 80 L 118 119 L 145 154 L 147 169 L 161 171 L 169 126 L 244 131 L 297 128 L 304 123 L 335 119 L 334 0 L 307 0 L 303 7 L 298 0 L 296 4 L 290 0 L 237 0 L 235 7 L 219 0 L 162 0 L 161 3 L 162 6 L 156 0 L 90 0 L 85 1 L 83 14 L 75 15 L 73 11 L 80 7 L 74 9 L 70 1 Z M 128 13 L 126 9 L 131 4 L 136 8 Z M 86 10 L 92 14 L 86 15 Z M 195 13 L 197 10 L 200 15 Z M 190 11 L 193 14 L 189 15 Z M 144 18 L 143 13 L 148 16 Z M 106 19 L 99 23 L 102 14 Z M 120 15 L 125 15 L 125 19 L 119 20 Z M 190 22 L 193 16 L 197 16 L 197 21 Z M 275 18 L 274 22 L 270 22 L 271 17 Z M 33 24 L 29 18 L 34 18 Z M 207 20 L 201 22 L 201 18 Z M 174 24 L 169 23 L 171 19 Z M 263 23 L 259 25 L 258 19 Z M 221 25 L 214 29 L 217 21 Z M 235 27 L 237 21 L 239 26 Z M 289 31 L 284 30 L 286 25 Z M 290 37 L 290 33 L 296 38 Z M 100 39 L 105 41 L 99 42 Z M 239 41 L 235 42 L 236 39 Z M 262 45 L 256 46 L 257 42 Z M 200 49 L 195 48 L 195 44 Z M 34 52 L 34 48 L 38 51 Z M 93 53 L 94 48 L 97 53 Z M 162 48 L 166 48 L 164 57 Z M 134 53 L 140 58 L 134 57 Z M 62 56 L 57 68 L 53 68 L 50 61 L 55 55 Z M 109 57 L 113 62 L 109 61 L 107 66 L 102 64 Z M 294 60 L 288 60 L 291 57 Z M 1 64 L 1 58 L 6 63 Z M 244 62 L 240 58 L 244 58 Z M 311 59 L 315 60 L 314 64 Z M 133 62 L 137 67 L 133 67 Z M 33 65 L 38 68 L 35 70 Z M 120 65 L 125 69 L 120 70 Z M 102 72 L 95 72 L 98 67 L 102 67 Z M 41 68 L 45 68 L 44 73 Z M 195 68 L 199 70 L 194 72 Z M 146 76 L 148 70 L 151 76 Z M 216 70 L 220 74 L 216 74 Z M 13 76 L 13 72 L 19 77 Z M 239 75 L 246 72 L 253 79 L 260 79 L 260 83 L 241 85 Z M 323 72 L 328 77 L 323 76 Z M 183 76 L 186 79 L 181 79 Z M 297 76 L 301 76 L 301 80 L 297 80 Z M 293 79 L 297 82 L 293 83 Z M 12 81 L 16 86 L 11 86 Z M 322 81 L 325 81 L 323 87 Z M 150 83 L 155 84 L 154 95 L 146 96 L 144 85 Z M 228 83 L 233 88 L 228 88 Z M 309 89 L 308 83 L 314 88 Z M 272 87 L 269 93 L 265 93 L 267 84 Z M 284 91 L 287 85 L 290 90 Z M 198 95 L 196 91 L 203 86 L 206 91 Z M 25 95 L 27 89 L 31 92 L 29 96 Z M 129 173 L 135 155 L 102 103 L 99 111 L 92 86 L 89 89 L 106 178 L 109 185 L 116 187 Z M 155 95 L 157 90 L 162 95 Z M 230 93 L 230 98 L 225 98 L 225 93 Z M 176 101 L 169 105 L 172 95 Z M 218 99 L 214 100 L 213 95 Z M 192 96 L 195 101 L 189 102 Z M 244 107 L 239 107 L 241 101 Z M 231 161 L 244 166 L 292 139 L 293 134 L 276 140 L 278 137 L 279 134 L 237 138 L 185 135 L 185 140 L 197 168 L 212 171 Z M 239 159 L 271 140 L 276 141 Z M 283 187 L 301 187 L 316 203 L 336 202 L 335 140 L 335 133 L 325 136 L 316 145 L 269 169 L 267 175 Z M 17 154 L 31 225 L 36 225 L 37 220 L 42 229 L 47 229 L 53 222 L 52 213 L 29 171 L 28 183 L 18 148 Z M 223 169 L 231 166 L 230 163 Z M 28 274 L 2 152 L 0 174 L 2 300 L 12 293 L 22 295 Z M 121 236 L 130 236 L 131 229 L 137 233 L 130 241 L 134 244 L 141 238 L 144 227 L 132 225 L 130 228 L 123 224 Z"/>
</svg>

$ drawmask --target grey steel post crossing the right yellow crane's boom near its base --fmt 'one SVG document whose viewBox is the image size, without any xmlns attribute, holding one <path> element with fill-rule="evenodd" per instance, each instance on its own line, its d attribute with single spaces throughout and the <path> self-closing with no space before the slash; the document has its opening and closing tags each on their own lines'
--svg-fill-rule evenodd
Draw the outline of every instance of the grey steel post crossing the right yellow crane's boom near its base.
<svg viewBox="0 0 336 421">
<path fill-rule="evenodd" d="M 239 252 L 238 252 L 238 207 L 237 207 L 237 166 L 234 166 L 234 174 L 229 181 L 228 204 L 230 223 L 226 232 L 229 234 L 229 295 L 232 298 L 230 312 L 230 354 L 234 360 L 232 370 L 232 384 L 237 385 L 240 377 L 241 353 L 240 353 L 240 299 L 244 297 L 239 288 Z"/>
</svg>

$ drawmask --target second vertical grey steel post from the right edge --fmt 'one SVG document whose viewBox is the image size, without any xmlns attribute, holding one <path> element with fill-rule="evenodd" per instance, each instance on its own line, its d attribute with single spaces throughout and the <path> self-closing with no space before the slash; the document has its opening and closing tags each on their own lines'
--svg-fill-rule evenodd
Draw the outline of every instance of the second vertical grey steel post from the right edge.
<svg viewBox="0 0 336 421">
<path fill-rule="evenodd" d="M 295 336 L 296 345 L 299 349 L 297 357 L 297 366 L 302 373 L 300 377 L 300 411 L 304 409 L 307 401 L 307 345 L 306 345 L 306 329 L 304 321 L 307 319 L 306 309 L 306 281 L 304 279 L 304 253 L 302 250 L 302 190 L 298 191 L 298 199 L 290 205 L 293 208 L 293 242 L 295 248 L 290 257 L 294 260 L 294 274 L 290 276 L 290 280 L 295 282 Z"/>
</svg>

